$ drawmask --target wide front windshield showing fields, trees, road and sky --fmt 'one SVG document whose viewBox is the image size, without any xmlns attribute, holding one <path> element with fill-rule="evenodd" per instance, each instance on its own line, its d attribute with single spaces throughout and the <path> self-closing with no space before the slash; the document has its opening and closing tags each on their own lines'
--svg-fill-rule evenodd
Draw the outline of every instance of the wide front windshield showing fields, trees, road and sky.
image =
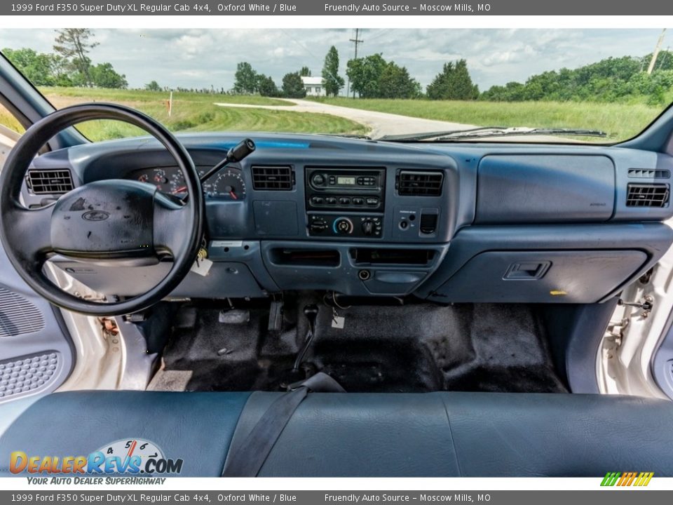
<svg viewBox="0 0 673 505">
<path fill-rule="evenodd" d="M 4 29 L 0 48 L 56 108 L 115 102 L 174 132 L 611 143 L 673 100 L 660 29 Z"/>
</svg>

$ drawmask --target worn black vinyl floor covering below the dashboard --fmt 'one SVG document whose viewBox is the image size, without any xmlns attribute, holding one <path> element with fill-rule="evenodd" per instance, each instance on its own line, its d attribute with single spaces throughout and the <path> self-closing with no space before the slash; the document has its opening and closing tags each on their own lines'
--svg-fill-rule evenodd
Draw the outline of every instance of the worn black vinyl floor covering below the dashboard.
<svg viewBox="0 0 673 505">
<path fill-rule="evenodd" d="M 192 370 L 194 391 L 278 391 L 304 342 L 305 297 L 285 304 L 283 330 L 268 332 L 268 309 L 240 324 L 219 309 L 184 307 L 164 352 L 165 370 Z M 320 304 L 304 374 L 322 370 L 346 391 L 565 392 L 529 305 L 435 304 L 337 309 Z M 299 314 L 299 317 L 297 316 Z"/>
</svg>

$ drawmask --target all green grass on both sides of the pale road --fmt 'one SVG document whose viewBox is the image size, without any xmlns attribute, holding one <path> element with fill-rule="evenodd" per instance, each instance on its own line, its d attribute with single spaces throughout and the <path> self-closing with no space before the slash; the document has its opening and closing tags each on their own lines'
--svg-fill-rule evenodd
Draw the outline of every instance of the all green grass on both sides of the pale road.
<svg viewBox="0 0 673 505">
<path fill-rule="evenodd" d="M 144 90 L 89 88 L 41 88 L 55 107 L 80 102 L 115 102 L 135 107 L 161 121 L 172 131 L 217 130 L 278 131 L 294 133 L 367 133 L 360 123 L 329 114 L 312 114 L 256 108 L 217 107 L 215 102 L 245 105 L 292 105 L 291 102 L 257 95 L 174 93 L 173 111 L 168 116 L 168 93 Z M 477 126 L 531 126 L 591 128 L 608 137 L 580 140 L 616 142 L 636 135 L 660 112 L 661 107 L 644 104 L 594 102 L 458 102 L 431 100 L 359 100 L 321 98 L 332 105 L 366 109 L 403 116 L 437 119 Z M 0 107 L 0 124 L 20 131 L 20 125 Z M 118 121 L 92 121 L 79 128 L 91 140 L 144 135 L 142 130 Z M 571 137 L 577 138 L 577 137 Z"/>
</svg>

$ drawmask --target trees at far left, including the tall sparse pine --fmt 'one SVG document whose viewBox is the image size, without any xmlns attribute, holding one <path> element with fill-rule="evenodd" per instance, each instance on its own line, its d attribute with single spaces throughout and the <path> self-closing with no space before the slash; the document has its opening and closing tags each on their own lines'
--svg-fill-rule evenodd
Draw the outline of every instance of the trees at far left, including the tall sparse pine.
<svg viewBox="0 0 673 505">
<path fill-rule="evenodd" d="M 84 86 L 88 88 L 128 88 L 126 76 L 109 62 L 94 65 L 90 50 L 98 46 L 86 28 L 56 30 L 53 53 L 30 48 L 2 50 L 6 58 L 35 86 Z"/>
</svg>

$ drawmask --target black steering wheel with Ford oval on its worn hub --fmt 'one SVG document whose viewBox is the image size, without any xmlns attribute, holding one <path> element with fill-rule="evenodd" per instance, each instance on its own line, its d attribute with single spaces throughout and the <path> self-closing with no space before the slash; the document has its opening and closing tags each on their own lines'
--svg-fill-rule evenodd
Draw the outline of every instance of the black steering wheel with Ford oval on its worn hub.
<svg viewBox="0 0 673 505">
<path fill-rule="evenodd" d="M 130 180 L 89 182 L 48 206 L 20 203 L 26 170 L 39 149 L 64 128 L 113 119 L 142 128 L 175 159 L 189 196 L 185 201 L 152 184 Z M 203 193 L 186 149 L 160 123 L 129 107 L 82 104 L 60 109 L 31 126 L 10 152 L 0 175 L 0 241 L 18 274 L 52 304 L 95 316 L 132 314 L 166 297 L 189 273 L 203 236 Z M 153 264 L 170 255 L 172 267 L 149 291 L 117 302 L 70 295 L 43 272 L 50 255 L 98 264 Z"/>
</svg>

